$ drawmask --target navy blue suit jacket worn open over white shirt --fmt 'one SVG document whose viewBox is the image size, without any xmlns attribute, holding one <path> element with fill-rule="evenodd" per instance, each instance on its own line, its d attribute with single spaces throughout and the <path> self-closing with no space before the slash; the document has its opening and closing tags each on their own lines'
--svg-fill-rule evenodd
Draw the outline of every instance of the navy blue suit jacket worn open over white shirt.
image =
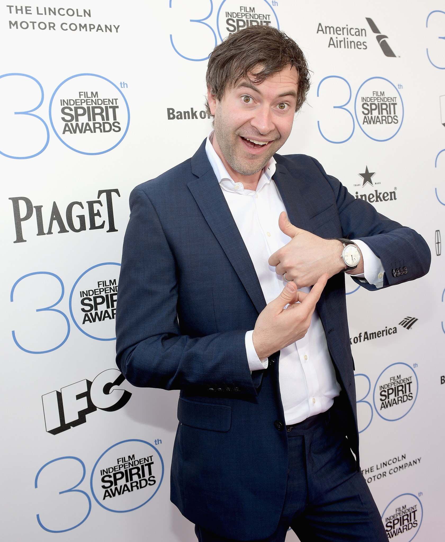
<svg viewBox="0 0 445 542">
<path fill-rule="evenodd" d="M 383 263 L 384 287 L 428 272 L 430 251 L 414 230 L 355 199 L 317 160 L 275 159 L 273 178 L 297 227 L 362 239 Z M 137 186 L 130 208 L 117 364 L 135 386 L 181 390 L 171 500 L 190 521 L 224 537 L 266 538 L 278 525 L 288 468 L 286 430 L 276 428 L 285 423 L 279 352 L 267 370 L 250 374 L 244 335 L 266 302 L 205 141 L 191 159 Z M 408 273 L 392 276 L 401 266 Z M 335 408 L 359 469 L 343 273 L 328 280 L 317 308 L 342 390 Z"/>
</svg>

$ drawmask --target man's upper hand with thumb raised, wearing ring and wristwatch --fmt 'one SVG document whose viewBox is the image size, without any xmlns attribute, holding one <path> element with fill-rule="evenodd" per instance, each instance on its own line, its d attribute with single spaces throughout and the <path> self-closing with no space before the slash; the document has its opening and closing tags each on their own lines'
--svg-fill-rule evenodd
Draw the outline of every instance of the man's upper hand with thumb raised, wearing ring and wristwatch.
<svg viewBox="0 0 445 542">
<path fill-rule="evenodd" d="M 337 239 L 323 239 L 309 231 L 296 228 L 287 220 L 284 211 L 278 225 L 292 240 L 269 258 L 269 265 L 275 267 L 276 274 L 286 273 L 287 280 L 293 280 L 298 288 L 302 288 L 315 284 L 324 273 L 331 278 L 345 268 L 341 259 L 343 243 Z M 363 273 L 361 259 L 360 266 L 362 270 L 357 268 L 352 273 Z"/>
</svg>

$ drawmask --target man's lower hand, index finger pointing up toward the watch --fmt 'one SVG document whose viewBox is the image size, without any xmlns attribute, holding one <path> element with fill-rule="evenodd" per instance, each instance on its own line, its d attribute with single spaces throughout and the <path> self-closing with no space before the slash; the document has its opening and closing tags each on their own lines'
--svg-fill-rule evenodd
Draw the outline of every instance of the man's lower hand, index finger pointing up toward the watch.
<svg viewBox="0 0 445 542">
<path fill-rule="evenodd" d="M 255 351 L 261 360 L 306 335 L 327 279 L 327 274 L 322 275 L 308 294 L 297 292 L 296 285 L 289 282 L 278 298 L 261 311 L 252 335 Z M 285 309 L 287 304 L 289 306 Z"/>
</svg>

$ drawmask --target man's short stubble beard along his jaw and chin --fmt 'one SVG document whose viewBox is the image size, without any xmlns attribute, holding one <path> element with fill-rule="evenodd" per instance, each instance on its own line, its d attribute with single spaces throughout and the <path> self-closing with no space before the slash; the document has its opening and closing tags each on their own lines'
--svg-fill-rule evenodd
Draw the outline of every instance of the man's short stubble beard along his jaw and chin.
<svg viewBox="0 0 445 542">
<path fill-rule="evenodd" d="M 270 158 L 272 158 L 275 152 L 285 143 L 285 141 L 281 142 L 281 137 L 279 137 L 270 144 L 267 152 L 259 157 L 261 158 L 259 161 L 243 160 L 237 154 L 236 140 L 240 134 L 238 134 L 238 130 L 233 132 L 233 128 L 225 121 L 225 118 L 221 113 L 218 114 L 217 112 L 215 114 L 214 128 L 216 140 L 218 141 L 218 145 L 220 146 L 224 158 L 230 166 L 238 173 L 241 173 L 241 175 L 255 175 L 255 173 L 264 169 Z M 251 137 L 253 138 L 254 136 Z"/>
</svg>

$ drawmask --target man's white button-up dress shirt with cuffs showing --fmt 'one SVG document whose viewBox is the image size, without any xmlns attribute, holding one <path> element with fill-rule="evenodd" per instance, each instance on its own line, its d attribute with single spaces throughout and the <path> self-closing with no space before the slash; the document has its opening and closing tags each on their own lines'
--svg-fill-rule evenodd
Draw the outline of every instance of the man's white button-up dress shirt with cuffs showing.
<svg viewBox="0 0 445 542">
<path fill-rule="evenodd" d="M 282 276 L 275 273 L 275 267 L 269 266 L 269 256 L 291 240 L 278 226 L 280 213 L 286 209 L 272 179 L 276 162 L 273 157 L 269 160 L 256 190 L 245 190 L 242 183 L 235 183 L 230 178 L 216 154 L 211 144 L 213 133 L 207 138 L 205 151 L 254 264 L 266 303 L 269 303 L 280 295 L 286 285 Z M 356 243 L 366 262 L 365 273 L 358 276 L 364 276 L 366 280 L 377 278 L 383 285 L 382 263 L 365 243 Z M 369 282 L 375 283 L 376 280 Z M 309 292 L 310 288 L 300 290 Z M 245 339 L 249 368 L 251 371 L 265 369 L 268 360 L 261 361 L 257 356 L 252 334 L 253 330 L 248 331 Z M 340 385 L 316 308 L 305 337 L 281 350 L 279 366 L 281 401 L 286 425 L 302 422 L 309 416 L 331 408 L 334 397 L 340 393 Z"/>
</svg>

